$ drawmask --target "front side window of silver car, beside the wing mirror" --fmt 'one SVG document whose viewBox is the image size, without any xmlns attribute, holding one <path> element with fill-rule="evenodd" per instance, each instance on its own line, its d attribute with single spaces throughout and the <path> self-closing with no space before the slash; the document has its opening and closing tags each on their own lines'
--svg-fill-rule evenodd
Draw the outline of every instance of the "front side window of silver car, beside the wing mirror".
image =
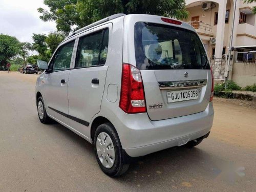
<svg viewBox="0 0 256 192">
<path fill-rule="evenodd" d="M 61 46 L 53 57 L 52 70 L 60 71 L 70 68 L 70 62 L 75 41 L 69 42 L 66 45 Z"/>
</svg>

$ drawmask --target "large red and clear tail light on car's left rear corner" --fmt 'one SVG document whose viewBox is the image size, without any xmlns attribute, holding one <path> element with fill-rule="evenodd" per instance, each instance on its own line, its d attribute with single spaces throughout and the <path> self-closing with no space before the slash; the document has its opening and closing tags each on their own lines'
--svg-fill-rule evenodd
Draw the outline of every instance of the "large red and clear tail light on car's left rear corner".
<svg viewBox="0 0 256 192">
<path fill-rule="evenodd" d="M 146 112 L 143 81 L 140 70 L 123 63 L 122 82 L 119 107 L 125 113 Z"/>
</svg>

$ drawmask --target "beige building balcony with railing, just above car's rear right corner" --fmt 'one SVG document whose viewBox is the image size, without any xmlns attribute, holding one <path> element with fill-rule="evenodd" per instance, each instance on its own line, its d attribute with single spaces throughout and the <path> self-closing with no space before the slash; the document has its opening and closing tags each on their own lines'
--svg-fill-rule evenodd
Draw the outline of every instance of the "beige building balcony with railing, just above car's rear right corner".
<svg viewBox="0 0 256 192">
<path fill-rule="evenodd" d="M 190 24 L 192 27 L 194 27 L 197 31 L 198 34 L 200 35 L 205 35 L 209 37 L 213 37 L 214 33 L 212 33 L 212 26 L 209 24 L 205 24 L 203 22 L 199 22 L 197 20 L 187 22 Z"/>
</svg>

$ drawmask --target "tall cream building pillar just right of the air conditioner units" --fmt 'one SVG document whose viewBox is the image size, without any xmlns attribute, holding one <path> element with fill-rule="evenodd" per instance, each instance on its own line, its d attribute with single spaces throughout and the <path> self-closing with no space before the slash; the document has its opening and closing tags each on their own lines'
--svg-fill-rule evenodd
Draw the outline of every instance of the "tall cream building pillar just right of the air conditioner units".
<svg viewBox="0 0 256 192">
<path fill-rule="evenodd" d="M 222 57 L 224 31 L 225 31 L 226 7 L 227 7 L 227 0 L 222 0 L 219 2 L 217 35 L 216 35 L 216 45 L 215 45 L 215 57 L 216 58 Z"/>
</svg>

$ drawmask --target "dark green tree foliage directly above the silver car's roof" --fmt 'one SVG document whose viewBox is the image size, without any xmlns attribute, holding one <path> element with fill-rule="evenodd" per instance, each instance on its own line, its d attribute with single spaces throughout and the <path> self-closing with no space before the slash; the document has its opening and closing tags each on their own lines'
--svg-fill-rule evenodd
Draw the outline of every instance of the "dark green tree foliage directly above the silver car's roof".
<svg viewBox="0 0 256 192">
<path fill-rule="evenodd" d="M 163 15 L 175 18 L 188 16 L 184 0 L 78 0 L 77 10 L 80 18 L 88 20 L 89 23 L 118 12 Z"/>
</svg>

